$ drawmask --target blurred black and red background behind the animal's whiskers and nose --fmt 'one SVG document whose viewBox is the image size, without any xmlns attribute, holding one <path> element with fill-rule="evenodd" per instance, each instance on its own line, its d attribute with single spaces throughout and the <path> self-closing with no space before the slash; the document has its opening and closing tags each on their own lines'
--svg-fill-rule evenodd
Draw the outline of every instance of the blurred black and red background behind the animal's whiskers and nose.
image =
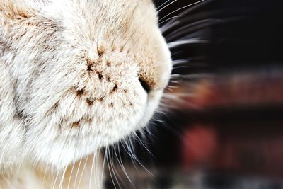
<svg viewBox="0 0 283 189">
<path fill-rule="evenodd" d="M 107 188 L 283 188 L 283 2 L 154 1 L 173 71 Z"/>
</svg>

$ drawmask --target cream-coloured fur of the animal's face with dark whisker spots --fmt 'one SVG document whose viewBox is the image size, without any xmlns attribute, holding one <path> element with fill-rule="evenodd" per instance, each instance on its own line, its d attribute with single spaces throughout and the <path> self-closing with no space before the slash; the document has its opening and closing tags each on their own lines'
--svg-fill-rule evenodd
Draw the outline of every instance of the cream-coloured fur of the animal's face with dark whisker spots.
<svg viewBox="0 0 283 189">
<path fill-rule="evenodd" d="M 170 73 L 150 0 L 1 0 L 0 188 L 59 187 L 146 126 Z"/>
</svg>

